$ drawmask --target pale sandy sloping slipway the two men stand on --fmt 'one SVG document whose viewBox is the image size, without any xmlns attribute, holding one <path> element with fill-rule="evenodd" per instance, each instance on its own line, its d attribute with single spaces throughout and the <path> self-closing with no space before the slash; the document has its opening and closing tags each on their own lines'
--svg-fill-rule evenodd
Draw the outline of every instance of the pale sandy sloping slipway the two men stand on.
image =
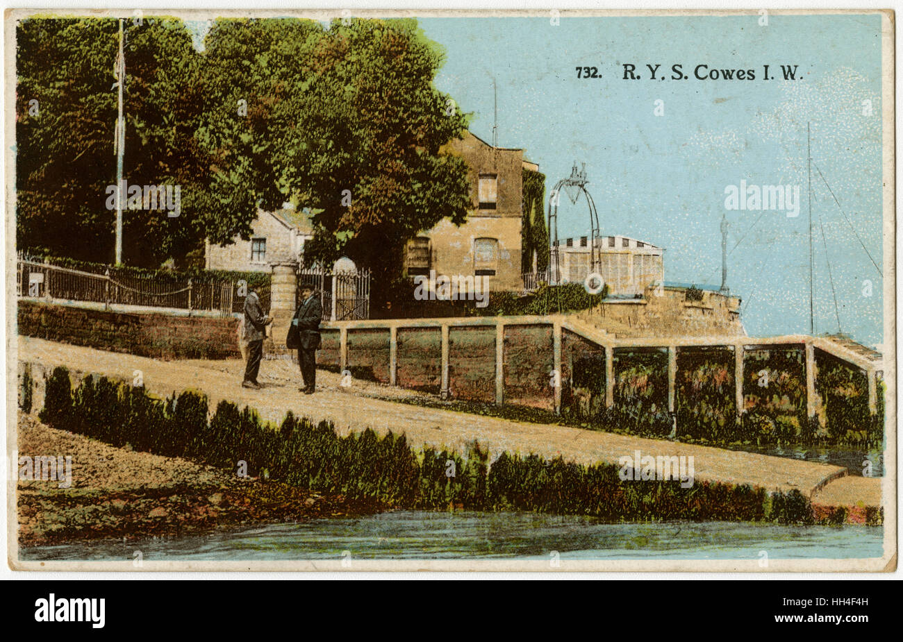
<svg viewBox="0 0 903 642">
<path fill-rule="evenodd" d="M 292 410 L 315 421 L 330 420 L 340 433 L 366 427 L 379 433 L 391 429 L 404 432 L 414 446 L 449 447 L 459 452 L 476 439 L 490 452 L 562 455 L 578 463 L 618 463 L 620 457 L 632 457 L 636 451 L 653 456 L 692 455 L 697 480 L 748 483 L 768 490 L 798 489 L 810 497 L 815 491 L 824 495 L 838 489 L 829 497 L 845 503 L 880 505 L 879 479 L 844 477 L 846 469 L 827 463 L 423 408 L 368 396 L 379 392 L 410 397 L 417 393 L 361 381 L 342 387 L 339 376 L 326 371 L 318 372 L 316 394 L 303 395 L 298 390 L 301 381 L 297 366 L 283 360 L 263 362 L 259 381 L 265 387 L 249 390 L 240 385 L 244 364 L 238 360 L 163 362 L 26 336 L 19 336 L 18 340 L 19 361 L 33 363 L 36 374 L 66 365 L 70 371 L 98 372 L 132 381 L 135 371 L 141 371 L 144 385 L 154 394 L 169 395 L 189 388 L 203 390 L 210 399 L 211 410 L 219 400 L 228 399 L 256 408 L 261 417 L 275 423 Z M 36 391 L 35 408 L 41 408 L 40 395 L 42 390 Z"/>
</svg>

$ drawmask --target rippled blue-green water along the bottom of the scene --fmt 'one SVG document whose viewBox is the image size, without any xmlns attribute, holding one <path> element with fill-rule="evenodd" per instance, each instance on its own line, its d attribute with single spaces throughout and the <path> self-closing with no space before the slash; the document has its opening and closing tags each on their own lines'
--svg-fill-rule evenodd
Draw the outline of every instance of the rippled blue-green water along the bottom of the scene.
<svg viewBox="0 0 903 642">
<path fill-rule="evenodd" d="M 209 535 L 26 548 L 29 560 L 771 559 L 880 557 L 882 527 L 731 522 L 604 524 L 535 513 L 398 511 Z M 346 551 L 348 552 L 346 554 Z"/>
</svg>

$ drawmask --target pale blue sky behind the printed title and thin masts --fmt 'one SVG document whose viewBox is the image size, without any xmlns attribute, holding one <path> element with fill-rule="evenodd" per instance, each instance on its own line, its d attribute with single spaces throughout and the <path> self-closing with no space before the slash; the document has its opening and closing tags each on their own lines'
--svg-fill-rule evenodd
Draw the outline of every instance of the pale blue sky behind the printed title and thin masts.
<svg viewBox="0 0 903 642">
<path fill-rule="evenodd" d="M 882 341 L 881 277 L 833 202 L 881 266 L 880 16 L 433 18 L 420 23 L 447 60 L 436 85 L 473 112 L 491 141 L 522 147 L 546 189 L 585 162 L 602 234 L 666 248 L 666 280 L 719 285 L 724 188 L 800 187 L 799 216 L 728 211 L 728 285 L 744 299 L 750 335 L 806 332 L 809 237 L 806 124 L 812 127 L 816 332 Z M 639 80 L 622 79 L 621 63 Z M 650 80 L 646 63 L 660 63 Z M 690 79 L 671 78 L 680 63 Z M 755 69 L 754 81 L 696 80 L 698 64 Z M 763 81 L 762 66 L 798 65 L 802 79 Z M 575 67 L 599 68 L 577 79 Z M 654 115 L 655 101 L 665 115 Z M 871 114 L 863 115 L 863 100 Z M 761 216 L 759 216 L 761 215 Z M 563 200 L 559 235 L 586 234 L 585 203 Z M 824 225 L 824 240 L 819 216 Z M 757 222 L 758 219 L 758 222 Z M 755 224 L 753 226 L 753 224 Z M 825 247 L 827 252 L 825 252 Z M 883 269 L 882 269 L 883 270 Z M 865 280 L 872 295 L 862 295 Z"/>
</svg>

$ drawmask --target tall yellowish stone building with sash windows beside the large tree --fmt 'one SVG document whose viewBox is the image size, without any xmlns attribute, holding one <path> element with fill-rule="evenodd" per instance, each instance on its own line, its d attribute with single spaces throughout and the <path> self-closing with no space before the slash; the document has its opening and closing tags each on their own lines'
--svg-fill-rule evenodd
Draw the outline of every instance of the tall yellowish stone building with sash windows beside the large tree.
<svg viewBox="0 0 903 642">
<path fill-rule="evenodd" d="M 523 150 L 494 147 L 470 132 L 444 151 L 467 162 L 472 208 L 463 225 L 442 219 L 408 243 L 407 274 L 485 277 L 489 291 L 522 290 L 523 172 L 538 166 L 524 160 Z"/>
</svg>

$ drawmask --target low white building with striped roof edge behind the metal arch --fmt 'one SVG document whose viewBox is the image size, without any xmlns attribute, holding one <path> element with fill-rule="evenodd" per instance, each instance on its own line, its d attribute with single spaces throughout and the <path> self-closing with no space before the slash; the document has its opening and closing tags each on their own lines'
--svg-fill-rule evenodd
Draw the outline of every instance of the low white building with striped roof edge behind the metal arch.
<svg viewBox="0 0 903 642">
<path fill-rule="evenodd" d="M 665 282 L 665 250 L 628 236 L 601 236 L 596 239 L 600 275 L 609 286 L 610 297 L 641 297 L 650 285 Z M 591 252 L 588 236 L 560 239 L 557 277 L 562 283 L 582 282 L 590 274 Z M 556 273 L 551 271 L 551 282 Z"/>
</svg>

